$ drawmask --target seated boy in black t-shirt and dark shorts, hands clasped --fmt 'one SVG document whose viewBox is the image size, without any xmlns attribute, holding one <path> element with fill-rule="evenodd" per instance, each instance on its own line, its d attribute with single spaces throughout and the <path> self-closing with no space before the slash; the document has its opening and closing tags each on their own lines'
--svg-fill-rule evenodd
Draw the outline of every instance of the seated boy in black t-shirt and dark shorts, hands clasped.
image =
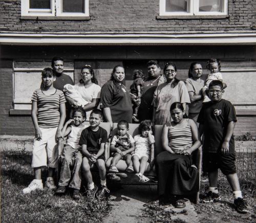
<svg viewBox="0 0 256 223">
<path fill-rule="evenodd" d="M 108 141 L 108 133 L 99 126 L 103 114 L 99 109 L 92 110 L 90 126 L 81 133 L 79 145 L 82 146 L 82 172 L 88 182 L 87 196 L 93 199 L 95 195 L 102 199 L 110 191 L 106 187 L 106 168 L 104 157 L 104 144 Z M 100 188 L 93 183 L 91 166 L 96 164 L 99 169 Z"/>
</svg>

